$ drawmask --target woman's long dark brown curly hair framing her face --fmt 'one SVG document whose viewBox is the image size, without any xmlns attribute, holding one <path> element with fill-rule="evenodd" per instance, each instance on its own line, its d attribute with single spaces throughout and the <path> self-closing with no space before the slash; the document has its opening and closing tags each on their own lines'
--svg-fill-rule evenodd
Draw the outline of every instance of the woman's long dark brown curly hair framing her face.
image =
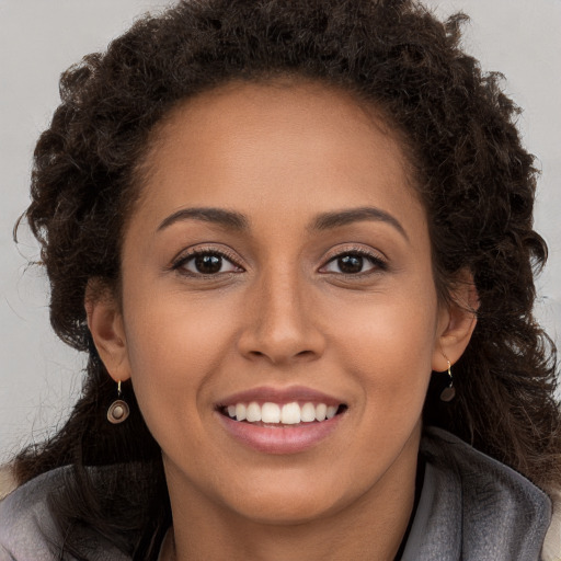
<svg viewBox="0 0 561 561">
<path fill-rule="evenodd" d="M 170 524 L 161 453 L 130 383 L 130 417 L 117 426 L 105 419 L 116 390 L 88 330 L 85 287 L 93 278 L 118 286 L 154 126 L 232 80 L 335 87 L 400 134 L 428 217 L 438 291 L 449 297 L 469 271 L 480 302 L 454 367 L 457 397 L 444 404 L 431 387 L 424 421 L 543 489 L 561 484 L 556 350 L 533 317 L 534 274 L 547 259 L 533 229 L 537 171 L 501 75 L 483 73 L 461 50 L 466 19 L 440 22 L 414 0 L 181 1 L 62 75 L 61 103 L 35 149 L 25 217 L 42 245 L 53 328 L 89 362 L 66 425 L 16 460 L 20 482 L 72 466 L 53 506 L 61 527 L 89 524 L 126 553 L 151 559 L 154 536 Z M 103 467 L 101 479 L 92 466 Z M 79 545 L 65 547 L 78 556 Z"/>
</svg>

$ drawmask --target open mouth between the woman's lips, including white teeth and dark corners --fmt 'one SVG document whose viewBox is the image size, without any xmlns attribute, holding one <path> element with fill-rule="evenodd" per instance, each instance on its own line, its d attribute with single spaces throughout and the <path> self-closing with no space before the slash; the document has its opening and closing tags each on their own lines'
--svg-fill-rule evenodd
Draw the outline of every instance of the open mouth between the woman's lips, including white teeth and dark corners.
<svg viewBox="0 0 561 561">
<path fill-rule="evenodd" d="M 344 413 L 347 405 L 328 404 L 313 401 L 290 401 L 287 403 L 265 401 L 237 402 L 229 405 L 221 405 L 218 412 L 240 423 L 250 423 L 257 426 L 271 428 L 291 427 L 295 425 L 307 425 L 311 423 L 324 423 L 335 415 Z"/>
</svg>

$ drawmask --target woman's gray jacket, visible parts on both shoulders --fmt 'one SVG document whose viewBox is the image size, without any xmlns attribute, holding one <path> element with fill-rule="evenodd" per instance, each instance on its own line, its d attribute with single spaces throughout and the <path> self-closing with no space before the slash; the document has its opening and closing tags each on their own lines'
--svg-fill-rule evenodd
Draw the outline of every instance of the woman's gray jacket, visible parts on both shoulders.
<svg viewBox="0 0 561 561">
<path fill-rule="evenodd" d="M 425 431 L 421 456 L 423 489 L 401 561 L 540 560 L 551 517 L 542 491 L 438 428 Z M 45 473 L 0 502 L 0 561 L 61 559 L 46 503 L 61 484 L 60 474 L 61 469 Z M 93 531 L 87 557 L 130 559 Z"/>
</svg>

